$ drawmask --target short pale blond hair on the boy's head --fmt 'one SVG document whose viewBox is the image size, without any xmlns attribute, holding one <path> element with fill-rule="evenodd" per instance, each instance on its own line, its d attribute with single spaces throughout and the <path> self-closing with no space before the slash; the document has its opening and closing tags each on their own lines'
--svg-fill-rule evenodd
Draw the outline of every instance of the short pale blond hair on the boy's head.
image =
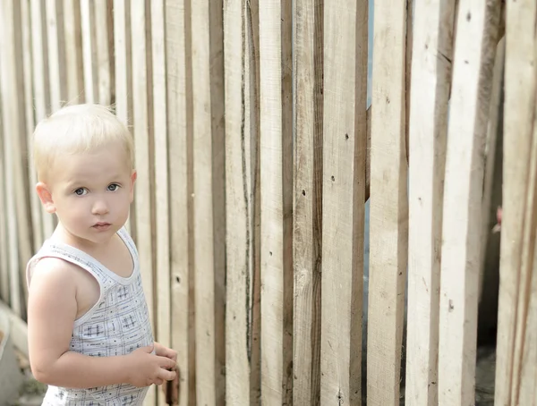
<svg viewBox="0 0 537 406">
<path fill-rule="evenodd" d="M 57 156 L 88 153 L 119 142 L 124 146 L 130 168 L 134 165 L 134 146 L 127 127 L 107 106 L 84 104 L 65 106 L 39 122 L 32 138 L 32 157 L 38 180 Z"/>
</svg>

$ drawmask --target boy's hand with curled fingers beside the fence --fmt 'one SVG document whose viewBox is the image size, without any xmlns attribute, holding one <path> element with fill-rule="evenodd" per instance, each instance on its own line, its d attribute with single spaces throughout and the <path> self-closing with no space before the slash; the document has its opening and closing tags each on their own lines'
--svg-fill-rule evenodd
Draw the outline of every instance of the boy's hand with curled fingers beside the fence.
<svg viewBox="0 0 537 406">
<path fill-rule="evenodd" d="M 142 347 L 127 355 L 129 361 L 129 384 L 143 387 L 162 385 L 164 381 L 175 379 L 175 360 L 158 354 L 151 354 L 153 347 Z"/>
</svg>

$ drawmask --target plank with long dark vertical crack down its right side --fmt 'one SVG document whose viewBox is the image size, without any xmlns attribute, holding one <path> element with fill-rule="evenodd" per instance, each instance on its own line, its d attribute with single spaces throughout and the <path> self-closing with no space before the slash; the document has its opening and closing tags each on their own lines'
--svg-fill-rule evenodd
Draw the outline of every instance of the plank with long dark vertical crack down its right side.
<svg viewBox="0 0 537 406">
<path fill-rule="evenodd" d="M 248 405 L 260 402 L 259 54 L 251 30 L 255 5 L 238 0 L 224 7 L 226 402 Z"/>
</svg>

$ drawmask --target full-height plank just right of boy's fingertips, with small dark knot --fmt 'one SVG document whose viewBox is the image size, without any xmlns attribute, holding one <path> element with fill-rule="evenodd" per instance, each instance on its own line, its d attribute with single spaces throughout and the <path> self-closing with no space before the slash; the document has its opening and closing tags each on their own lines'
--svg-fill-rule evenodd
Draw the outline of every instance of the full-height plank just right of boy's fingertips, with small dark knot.
<svg viewBox="0 0 537 406">
<path fill-rule="evenodd" d="M 171 341 L 181 375 L 179 405 L 195 405 L 192 272 L 192 65 L 190 1 L 166 1 L 167 131 L 170 188 Z"/>
</svg>

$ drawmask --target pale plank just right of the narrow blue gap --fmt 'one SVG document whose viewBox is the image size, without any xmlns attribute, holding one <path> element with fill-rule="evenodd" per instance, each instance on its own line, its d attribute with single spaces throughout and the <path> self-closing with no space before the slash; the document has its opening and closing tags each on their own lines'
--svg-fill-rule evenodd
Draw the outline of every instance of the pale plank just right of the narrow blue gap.
<svg viewBox="0 0 537 406">
<path fill-rule="evenodd" d="M 367 397 L 399 402 L 408 237 L 403 2 L 375 4 Z"/>
</svg>

